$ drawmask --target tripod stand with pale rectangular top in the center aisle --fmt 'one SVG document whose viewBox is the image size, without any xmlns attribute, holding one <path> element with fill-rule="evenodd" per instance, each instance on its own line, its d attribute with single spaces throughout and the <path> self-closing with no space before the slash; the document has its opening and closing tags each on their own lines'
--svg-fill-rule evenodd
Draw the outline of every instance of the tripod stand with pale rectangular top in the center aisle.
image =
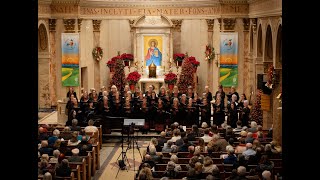
<svg viewBox="0 0 320 180">
<path fill-rule="evenodd" d="M 129 132 L 128 132 L 129 143 L 128 143 L 128 147 L 127 147 L 126 152 L 128 151 L 128 149 L 130 149 L 130 145 L 131 145 L 131 143 L 132 143 L 133 171 L 135 171 L 134 144 L 136 144 L 136 146 L 137 146 L 137 149 L 138 149 L 138 151 L 139 151 L 141 160 L 142 160 L 142 155 L 141 155 L 140 148 L 139 148 L 138 142 L 137 142 L 137 140 L 136 140 L 136 137 L 134 136 L 134 128 L 135 128 L 135 126 L 144 126 L 144 124 L 145 124 L 145 119 L 124 119 L 123 124 L 124 124 L 125 126 L 129 126 Z M 130 133 L 130 129 L 131 129 L 131 128 L 133 129 L 133 134 L 132 134 L 132 136 L 129 136 L 129 133 Z"/>
</svg>

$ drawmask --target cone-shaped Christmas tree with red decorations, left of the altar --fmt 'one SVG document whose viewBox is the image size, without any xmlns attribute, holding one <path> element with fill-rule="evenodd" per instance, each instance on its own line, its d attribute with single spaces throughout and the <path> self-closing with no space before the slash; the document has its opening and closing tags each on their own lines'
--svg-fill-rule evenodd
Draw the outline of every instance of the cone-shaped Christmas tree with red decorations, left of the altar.
<svg viewBox="0 0 320 180">
<path fill-rule="evenodd" d="M 111 89 L 112 85 L 116 85 L 118 91 L 122 92 L 126 85 L 126 75 L 124 73 L 124 64 L 120 56 L 117 56 L 114 67 L 115 72 L 111 78 L 109 88 Z"/>
</svg>

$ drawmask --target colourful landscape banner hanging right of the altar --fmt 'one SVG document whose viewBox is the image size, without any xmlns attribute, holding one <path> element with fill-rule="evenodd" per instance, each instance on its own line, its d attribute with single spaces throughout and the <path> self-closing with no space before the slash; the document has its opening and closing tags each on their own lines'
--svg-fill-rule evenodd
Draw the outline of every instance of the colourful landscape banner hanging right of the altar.
<svg viewBox="0 0 320 180">
<path fill-rule="evenodd" d="M 219 82 L 224 87 L 238 85 L 238 33 L 221 33 Z"/>
</svg>

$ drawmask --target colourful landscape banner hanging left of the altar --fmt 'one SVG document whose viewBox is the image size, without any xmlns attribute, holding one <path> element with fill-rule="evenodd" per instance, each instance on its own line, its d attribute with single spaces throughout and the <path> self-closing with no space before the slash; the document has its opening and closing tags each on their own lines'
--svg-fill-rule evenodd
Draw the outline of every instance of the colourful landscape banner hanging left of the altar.
<svg viewBox="0 0 320 180">
<path fill-rule="evenodd" d="M 79 86 L 79 33 L 62 33 L 62 85 Z"/>
</svg>

